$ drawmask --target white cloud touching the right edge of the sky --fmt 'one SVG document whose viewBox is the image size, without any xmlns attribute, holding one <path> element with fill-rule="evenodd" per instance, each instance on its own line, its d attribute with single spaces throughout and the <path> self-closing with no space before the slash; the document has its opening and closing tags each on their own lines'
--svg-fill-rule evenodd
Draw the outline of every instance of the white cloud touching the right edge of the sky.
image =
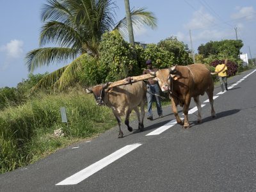
<svg viewBox="0 0 256 192">
<path fill-rule="evenodd" d="M 255 19 L 256 11 L 252 6 L 236 7 L 237 13 L 231 15 L 232 19 Z"/>
</svg>

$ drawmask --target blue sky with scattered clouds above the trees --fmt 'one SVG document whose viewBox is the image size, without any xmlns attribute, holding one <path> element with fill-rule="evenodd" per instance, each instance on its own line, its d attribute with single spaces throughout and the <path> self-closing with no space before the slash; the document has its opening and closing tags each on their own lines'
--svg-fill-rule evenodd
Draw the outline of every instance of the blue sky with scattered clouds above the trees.
<svg viewBox="0 0 256 192">
<path fill-rule="evenodd" d="M 27 52 L 38 48 L 42 22 L 40 12 L 45 0 L 0 0 L 0 88 L 15 87 L 28 78 L 24 63 Z M 124 0 L 117 0 L 116 21 L 125 16 Z M 243 40 L 241 51 L 256 57 L 255 0 L 130 0 L 130 7 L 146 7 L 157 17 L 157 28 L 134 29 L 136 42 L 157 43 L 170 36 L 197 52 L 200 44 L 224 39 Z M 236 28 L 236 30 L 235 30 Z M 126 39 L 128 40 L 128 39 Z M 52 72 L 64 63 L 38 68 L 33 74 Z"/>
</svg>

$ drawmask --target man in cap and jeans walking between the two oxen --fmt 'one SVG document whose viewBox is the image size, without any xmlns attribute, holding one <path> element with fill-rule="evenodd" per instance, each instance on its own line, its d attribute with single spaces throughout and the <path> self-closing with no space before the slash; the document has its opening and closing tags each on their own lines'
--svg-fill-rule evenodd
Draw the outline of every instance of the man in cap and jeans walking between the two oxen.
<svg viewBox="0 0 256 192">
<path fill-rule="evenodd" d="M 151 60 L 147 60 L 146 65 L 147 65 L 147 69 L 145 69 L 143 71 L 143 75 L 149 74 L 150 72 L 157 71 L 157 68 L 153 68 Z M 157 96 L 160 94 L 159 92 L 160 92 L 160 88 L 159 88 L 157 81 L 155 81 L 153 79 L 148 79 L 148 81 L 147 81 L 147 104 L 148 104 L 147 118 L 149 120 L 153 120 L 152 103 L 153 103 L 154 99 L 156 100 L 157 114 L 159 115 L 160 118 L 163 117 L 161 100 L 160 100 L 160 97 Z"/>
</svg>

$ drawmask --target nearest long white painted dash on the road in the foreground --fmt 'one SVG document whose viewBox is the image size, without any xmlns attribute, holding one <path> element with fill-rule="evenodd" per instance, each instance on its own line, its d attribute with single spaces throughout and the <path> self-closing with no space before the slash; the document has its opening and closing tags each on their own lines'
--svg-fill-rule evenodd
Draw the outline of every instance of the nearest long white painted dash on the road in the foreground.
<svg viewBox="0 0 256 192">
<path fill-rule="evenodd" d="M 56 186 L 78 184 L 79 182 L 83 181 L 87 177 L 90 177 L 91 175 L 93 175 L 93 173 L 98 172 L 108 164 L 113 163 L 114 161 L 124 156 L 125 154 L 128 154 L 135 148 L 140 147 L 140 145 L 142 145 L 142 143 L 134 143 L 132 145 L 126 145 L 125 147 L 120 148 L 119 150 L 116 150 L 116 152 L 113 152 L 113 154 L 110 154 L 109 156 L 104 157 L 100 161 L 97 161 L 96 163 L 91 164 L 90 166 L 84 168 L 80 172 L 77 172 L 74 175 L 68 177 L 67 179 L 59 182 L 58 184 L 56 184 Z"/>
</svg>

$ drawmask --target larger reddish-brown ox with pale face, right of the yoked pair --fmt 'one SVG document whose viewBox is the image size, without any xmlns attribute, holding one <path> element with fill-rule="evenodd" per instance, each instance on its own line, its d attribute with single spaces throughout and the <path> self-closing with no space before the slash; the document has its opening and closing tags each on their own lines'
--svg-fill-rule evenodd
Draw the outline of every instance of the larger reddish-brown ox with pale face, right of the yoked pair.
<svg viewBox="0 0 256 192">
<path fill-rule="evenodd" d="M 216 116 L 212 99 L 214 83 L 211 72 L 204 64 L 192 64 L 188 66 L 175 65 L 172 68 L 161 69 L 156 73 L 152 72 L 150 74 L 156 76 L 156 80 L 163 92 L 169 92 L 173 114 L 177 123 L 183 125 L 184 128 L 189 127 L 188 109 L 191 97 L 195 100 L 198 108 L 198 123 L 202 122 L 199 95 L 204 95 L 205 92 L 211 104 L 211 116 Z M 178 115 L 178 104 L 183 107 L 184 121 Z"/>
</svg>

